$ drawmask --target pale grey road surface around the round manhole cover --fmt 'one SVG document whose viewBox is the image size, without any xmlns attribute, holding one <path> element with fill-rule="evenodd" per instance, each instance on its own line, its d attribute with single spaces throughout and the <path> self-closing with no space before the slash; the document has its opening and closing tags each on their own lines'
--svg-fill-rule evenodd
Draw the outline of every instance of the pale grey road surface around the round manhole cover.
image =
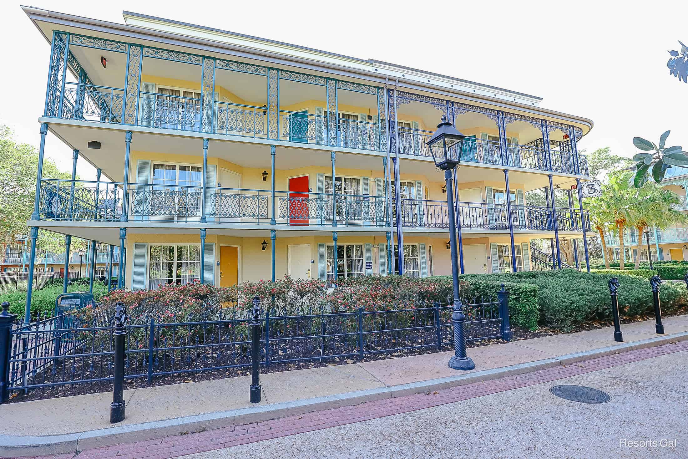
<svg viewBox="0 0 688 459">
<path fill-rule="evenodd" d="M 688 458 L 687 376 L 688 351 L 674 352 L 457 403 L 184 457 Z M 566 401 L 549 392 L 559 384 L 601 389 L 612 400 Z"/>
</svg>

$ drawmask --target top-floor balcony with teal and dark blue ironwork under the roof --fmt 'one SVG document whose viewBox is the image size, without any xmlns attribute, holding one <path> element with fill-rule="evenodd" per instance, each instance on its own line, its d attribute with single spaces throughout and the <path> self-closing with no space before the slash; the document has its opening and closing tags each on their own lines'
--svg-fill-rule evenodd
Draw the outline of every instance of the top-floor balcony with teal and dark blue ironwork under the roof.
<svg viewBox="0 0 688 459">
<path fill-rule="evenodd" d="M 124 74 L 87 74 L 101 57 Z M 67 32 L 50 62 L 47 118 L 429 158 L 444 115 L 469 136 L 465 162 L 588 175 L 580 127 L 524 114 Z"/>
</svg>

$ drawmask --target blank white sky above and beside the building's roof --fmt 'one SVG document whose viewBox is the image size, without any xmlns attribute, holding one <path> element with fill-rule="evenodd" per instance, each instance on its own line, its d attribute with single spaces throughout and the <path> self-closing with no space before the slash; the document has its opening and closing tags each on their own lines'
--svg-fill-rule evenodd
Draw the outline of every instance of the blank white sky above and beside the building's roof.
<svg viewBox="0 0 688 459">
<path fill-rule="evenodd" d="M 671 25 L 685 2 L 33 1 L 118 23 L 122 10 L 151 14 L 533 94 L 594 121 L 579 149 L 632 156 L 634 136 L 657 142 L 667 129 L 669 145 L 688 149 L 688 85 L 666 65 L 667 50 L 688 41 Z M 1 11 L 0 124 L 38 145 L 50 44 L 19 3 Z M 45 153 L 71 169 L 72 151 L 52 134 Z M 77 171 L 95 176 L 86 162 Z"/>
</svg>

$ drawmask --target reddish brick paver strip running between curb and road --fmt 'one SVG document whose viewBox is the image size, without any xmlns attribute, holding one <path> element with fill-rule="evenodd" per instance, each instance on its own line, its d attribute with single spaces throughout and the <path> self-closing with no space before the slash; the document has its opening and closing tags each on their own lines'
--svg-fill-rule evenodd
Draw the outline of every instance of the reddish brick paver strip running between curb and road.
<svg viewBox="0 0 688 459">
<path fill-rule="evenodd" d="M 442 389 L 430 394 L 413 394 L 396 398 L 361 403 L 347 407 L 325 409 L 299 416 L 288 416 L 260 423 L 233 425 L 187 435 L 170 436 L 155 440 L 125 443 L 79 453 L 66 453 L 58 456 L 37 456 L 35 459 L 168 459 L 191 453 L 211 451 L 230 446 L 268 440 L 303 432 L 327 429 L 337 425 L 358 423 L 363 420 L 382 418 L 394 414 L 407 413 L 453 403 L 468 398 L 480 397 L 510 389 L 526 387 L 557 379 L 568 378 L 605 368 L 616 367 L 650 359 L 652 357 L 688 350 L 688 341 L 669 343 L 655 348 L 644 348 L 598 357 L 571 365 L 561 365 L 546 370 L 537 370 L 517 376 L 506 376 L 480 383 L 471 383 Z"/>
</svg>

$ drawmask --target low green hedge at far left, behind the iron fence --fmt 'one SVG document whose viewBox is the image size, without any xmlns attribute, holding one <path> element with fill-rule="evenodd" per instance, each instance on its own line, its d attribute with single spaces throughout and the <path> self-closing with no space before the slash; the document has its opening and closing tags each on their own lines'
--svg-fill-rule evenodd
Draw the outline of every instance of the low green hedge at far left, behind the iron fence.
<svg viewBox="0 0 688 459">
<path fill-rule="evenodd" d="M 87 292 L 88 280 L 72 282 L 67 286 L 67 292 Z M 57 296 L 62 293 L 63 284 L 54 283 L 50 286 L 45 286 L 41 290 L 34 290 L 31 295 L 31 317 L 34 319 L 40 313 L 41 315 L 47 313 L 52 315 L 55 310 L 55 301 Z M 96 301 L 107 293 L 107 286 L 103 282 L 94 282 L 93 295 Z M 24 308 L 26 304 L 26 290 L 9 290 L 0 295 L 0 303 L 3 301 L 10 302 L 10 312 L 19 314 L 19 317 L 24 317 Z"/>
</svg>

